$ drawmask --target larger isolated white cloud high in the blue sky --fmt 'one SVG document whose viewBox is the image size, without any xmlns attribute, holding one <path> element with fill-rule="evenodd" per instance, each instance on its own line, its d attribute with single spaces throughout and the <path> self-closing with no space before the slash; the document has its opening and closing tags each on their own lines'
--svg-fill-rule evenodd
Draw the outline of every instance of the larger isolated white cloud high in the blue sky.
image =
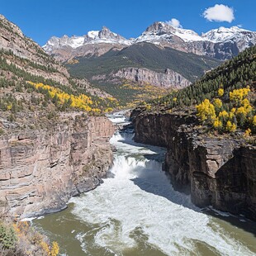
<svg viewBox="0 0 256 256">
<path fill-rule="evenodd" d="M 214 7 L 209 7 L 203 12 L 203 17 L 208 21 L 234 21 L 234 10 L 224 4 L 216 4 Z"/>
</svg>

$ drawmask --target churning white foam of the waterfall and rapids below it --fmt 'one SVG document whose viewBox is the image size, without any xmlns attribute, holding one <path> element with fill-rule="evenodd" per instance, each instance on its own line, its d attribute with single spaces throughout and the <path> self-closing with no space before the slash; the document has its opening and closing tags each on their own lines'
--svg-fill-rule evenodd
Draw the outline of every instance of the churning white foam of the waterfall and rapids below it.
<svg viewBox="0 0 256 256">
<path fill-rule="evenodd" d="M 121 255 L 137 246 L 132 234 L 139 229 L 147 237 L 145 243 L 168 255 L 193 252 L 197 241 L 221 255 L 253 255 L 211 216 L 193 206 L 189 196 L 175 192 L 159 162 L 143 157 L 158 153 L 156 147 L 136 145 L 132 135 L 116 134 L 111 143 L 118 149 L 111 168 L 114 178 L 104 179 L 97 189 L 70 200 L 75 216 L 100 225 L 94 237 L 97 246 Z M 83 238 L 78 238 L 81 243 Z"/>
</svg>

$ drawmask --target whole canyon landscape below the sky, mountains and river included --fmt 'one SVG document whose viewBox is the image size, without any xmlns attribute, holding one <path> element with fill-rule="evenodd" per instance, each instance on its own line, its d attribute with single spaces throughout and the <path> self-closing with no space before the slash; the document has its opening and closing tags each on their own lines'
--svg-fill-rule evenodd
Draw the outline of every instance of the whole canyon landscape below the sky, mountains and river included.
<svg viewBox="0 0 256 256">
<path fill-rule="evenodd" d="M 46 40 L 0 15 L 0 254 L 254 255 L 256 32 Z"/>
</svg>

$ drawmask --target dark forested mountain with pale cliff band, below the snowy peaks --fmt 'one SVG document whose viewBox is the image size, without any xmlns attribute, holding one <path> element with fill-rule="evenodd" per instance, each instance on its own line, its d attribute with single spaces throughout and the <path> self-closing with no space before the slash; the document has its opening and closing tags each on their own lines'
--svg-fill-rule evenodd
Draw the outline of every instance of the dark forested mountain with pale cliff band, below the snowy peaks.
<svg viewBox="0 0 256 256">
<path fill-rule="evenodd" d="M 220 64 L 217 59 L 174 50 L 168 47 L 140 43 L 120 51 L 109 50 L 101 56 L 80 57 L 66 64 L 69 72 L 78 78 L 88 78 L 97 88 L 114 97 L 126 95 L 123 85 L 144 89 L 153 85 L 159 89 L 187 87 L 207 70 Z M 136 84 L 136 85 L 135 85 Z M 130 95 L 130 92 L 129 92 Z M 126 98 L 128 101 L 131 95 Z"/>
</svg>

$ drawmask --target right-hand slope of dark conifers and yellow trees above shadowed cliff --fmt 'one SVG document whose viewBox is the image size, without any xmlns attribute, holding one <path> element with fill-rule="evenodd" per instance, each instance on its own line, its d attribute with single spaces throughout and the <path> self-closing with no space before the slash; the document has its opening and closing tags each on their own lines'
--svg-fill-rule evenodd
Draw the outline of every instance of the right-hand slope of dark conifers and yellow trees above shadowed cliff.
<svg viewBox="0 0 256 256">
<path fill-rule="evenodd" d="M 140 112 L 185 110 L 187 107 L 203 124 L 220 131 L 250 129 L 255 132 L 256 46 L 206 73 L 187 88 L 147 102 Z M 255 119 L 255 120 L 254 120 Z M 224 126 L 233 126 L 233 128 Z"/>
</svg>

